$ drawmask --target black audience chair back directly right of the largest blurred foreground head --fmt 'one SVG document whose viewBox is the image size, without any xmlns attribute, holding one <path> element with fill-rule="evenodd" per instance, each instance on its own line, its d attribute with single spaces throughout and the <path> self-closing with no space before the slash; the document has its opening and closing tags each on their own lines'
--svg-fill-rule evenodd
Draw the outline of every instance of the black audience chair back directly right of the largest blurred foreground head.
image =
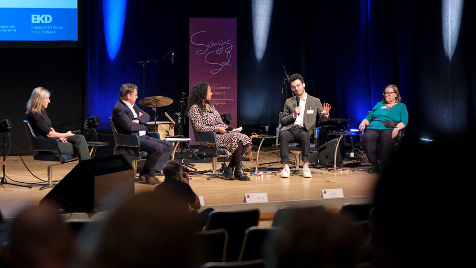
<svg viewBox="0 0 476 268">
<path fill-rule="evenodd" d="M 211 261 L 225 261 L 228 232 L 225 229 L 195 232 L 199 254 L 199 264 Z"/>
</svg>

